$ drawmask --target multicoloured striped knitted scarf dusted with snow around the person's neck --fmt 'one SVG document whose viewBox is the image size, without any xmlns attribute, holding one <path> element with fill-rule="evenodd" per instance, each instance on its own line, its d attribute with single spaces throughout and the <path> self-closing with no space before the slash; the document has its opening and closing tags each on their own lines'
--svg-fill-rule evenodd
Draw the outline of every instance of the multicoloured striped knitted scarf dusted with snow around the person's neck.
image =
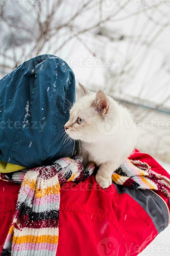
<svg viewBox="0 0 170 256">
<path fill-rule="evenodd" d="M 1 256 L 56 255 L 60 185 L 83 181 L 94 173 L 93 163 L 83 170 L 82 162 L 77 156 L 61 158 L 51 166 L 0 174 L 2 180 L 21 184 L 15 216 Z M 134 189 L 163 191 L 170 199 L 170 180 L 140 161 L 127 159 L 113 173 L 112 181 Z"/>
</svg>

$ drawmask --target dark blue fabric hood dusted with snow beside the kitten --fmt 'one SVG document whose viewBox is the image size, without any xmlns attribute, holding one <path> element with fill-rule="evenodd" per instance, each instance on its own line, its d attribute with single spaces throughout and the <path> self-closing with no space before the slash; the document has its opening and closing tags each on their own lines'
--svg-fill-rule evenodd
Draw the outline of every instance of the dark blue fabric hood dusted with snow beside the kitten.
<svg viewBox="0 0 170 256">
<path fill-rule="evenodd" d="M 74 102 L 74 73 L 54 55 L 25 61 L 3 77 L 0 160 L 32 168 L 71 156 L 74 143 L 63 145 L 63 129 Z"/>
</svg>

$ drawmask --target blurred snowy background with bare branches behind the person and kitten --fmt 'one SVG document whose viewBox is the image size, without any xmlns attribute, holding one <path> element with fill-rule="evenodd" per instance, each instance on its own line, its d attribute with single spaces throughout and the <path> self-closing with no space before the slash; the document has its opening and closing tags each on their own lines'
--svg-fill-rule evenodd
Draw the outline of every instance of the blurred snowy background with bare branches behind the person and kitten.
<svg viewBox="0 0 170 256">
<path fill-rule="evenodd" d="M 131 110 L 136 147 L 170 172 L 170 0 L 0 0 L 0 31 L 0 77 L 36 55 L 61 57 Z M 169 255 L 169 231 L 140 255 Z"/>
</svg>

